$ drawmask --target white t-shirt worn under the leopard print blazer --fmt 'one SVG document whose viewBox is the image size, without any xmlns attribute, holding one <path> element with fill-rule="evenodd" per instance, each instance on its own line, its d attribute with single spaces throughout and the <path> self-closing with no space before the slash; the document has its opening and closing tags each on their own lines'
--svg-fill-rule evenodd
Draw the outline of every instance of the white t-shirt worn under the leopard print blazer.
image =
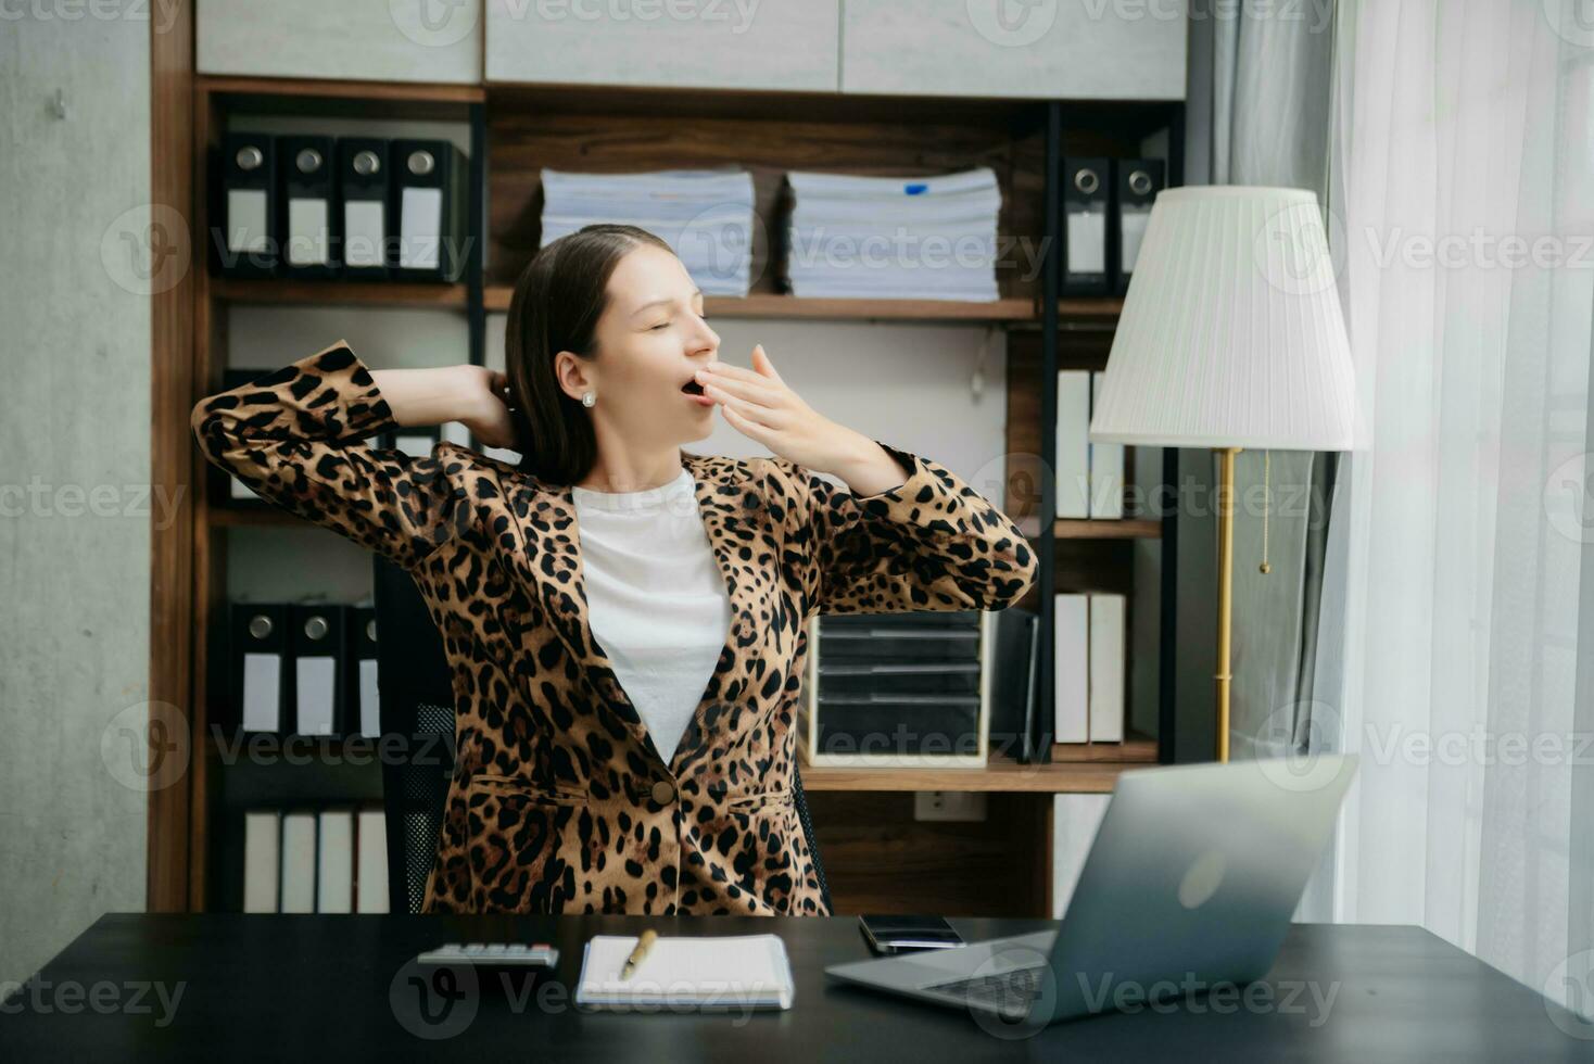
<svg viewBox="0 0 1594 1064">
<path fill-rule="evenodd" d="M 593 637 L 669 761 L 730 634 L 692 473 L 636 492 L 572 484 L 571 500 Z"/>
</svg>

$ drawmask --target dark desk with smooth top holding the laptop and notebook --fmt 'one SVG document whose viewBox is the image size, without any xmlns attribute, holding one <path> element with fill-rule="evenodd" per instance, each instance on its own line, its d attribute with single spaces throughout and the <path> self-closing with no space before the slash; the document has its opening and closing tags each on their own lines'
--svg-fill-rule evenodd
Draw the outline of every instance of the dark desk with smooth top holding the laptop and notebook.
<svg viewBox="0 0 1594 1064">
<path fill-rule="evenodd" d="M 968 940 L 1050 925 L 1019 919 L 952 922 Z M 634 935 L 647 925 L 663 935 L 781 935 L 797 980 L 792 1008 L 724 1015 L 574 1008 L 564 988 L 574 989 L 582 943 L 593 933 Z M 438 1026 L 429 1026 L 419 1013 L 419 996 L 403 980 L 413 973 L 408 960 L 442 941 L 493 940 L 553 941 L 563 951 L 559 972 L 529 988 L 516 983 L 518 996 L 488 986 L 440 1013 L 445 1018 Z M 1226 1013 L 1197 999 L 1173 1011 L 1097 1016 L 1023 1039 L 996 1037 L 963 1011 L 834 984 L 824 976 L 826 964 L 862 956 L 867 949 L 850 916 L 113 914 L 45 965 L 33 984 L 0 1010 L 0 1056 L 260 1058 L 303 1064 L 422 1054 L 604 1064 L 1175 1056 L 1358 1064 L 1594 1059 L 1594 1040 L 1570 1037 L 1551 1016 L 1584 1035 L 1594 1035 L 1594 1027 L 1580 1026 L 1570 1013 L 1415 927 L 1298 924 L 1266 988 L 1254 984 L 1251 1008 L 1243 996 L 1227 1002 Z M 1326 1008 L 1320 1003 L 1325 999 Z M 446 1039 L 427 1040 L 413 1032 L 450 1027 Z"/>
</svg>

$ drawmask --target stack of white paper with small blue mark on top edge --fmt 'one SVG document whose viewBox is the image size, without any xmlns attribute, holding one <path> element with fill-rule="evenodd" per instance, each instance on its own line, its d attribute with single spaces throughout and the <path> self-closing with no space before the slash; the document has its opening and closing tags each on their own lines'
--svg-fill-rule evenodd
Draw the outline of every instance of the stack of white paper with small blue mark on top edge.
<svg viewBox="0 0 1594 1064">
<path fill-rule="evenodd" d="M 942 177 L 786 175 L 792 295 L 996 298 L 1001 188 L 990 167 Z"/>
</svg>

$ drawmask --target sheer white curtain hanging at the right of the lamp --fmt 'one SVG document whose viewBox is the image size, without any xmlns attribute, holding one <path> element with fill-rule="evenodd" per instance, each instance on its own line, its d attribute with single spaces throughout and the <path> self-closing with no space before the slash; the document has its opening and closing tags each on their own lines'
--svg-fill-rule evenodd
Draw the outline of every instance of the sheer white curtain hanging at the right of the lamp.
<svg viewBox="0 0 1594 1064">
<path fill-rule="evenodd" d="M 1342 0 L 1331 239 L 1369 448 L 1341 467 L 1313 725 L 1361 755 L 1334 916 L 1425 925 L 1586 1007 L 1594 24 L 1578 6 Z"/>
</svg>

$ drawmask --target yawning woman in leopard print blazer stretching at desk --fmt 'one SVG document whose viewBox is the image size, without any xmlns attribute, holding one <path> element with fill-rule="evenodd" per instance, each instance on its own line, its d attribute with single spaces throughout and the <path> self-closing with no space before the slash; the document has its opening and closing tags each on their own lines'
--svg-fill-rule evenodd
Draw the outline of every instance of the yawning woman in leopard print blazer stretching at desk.
<svg viewBox="0 0 1594 1064">
<path fill-rule="evenodd" d="M 1035 580 L 955 475 L 824 419 L 762 347 L 720 363 L 701 299 L 647 231 L 587 226 L 515 285 L 507 379 L 340 341 L 194 406 L 210 462 L 403 565 L 443 634 L 426 911 L 827 914 L 791 792 L 805 618 L 1003 608 Z M 716 408 L 775 457 L 681 451 Z M 360 443 L 446 421 L 524 457 Z"/>
</svg>

